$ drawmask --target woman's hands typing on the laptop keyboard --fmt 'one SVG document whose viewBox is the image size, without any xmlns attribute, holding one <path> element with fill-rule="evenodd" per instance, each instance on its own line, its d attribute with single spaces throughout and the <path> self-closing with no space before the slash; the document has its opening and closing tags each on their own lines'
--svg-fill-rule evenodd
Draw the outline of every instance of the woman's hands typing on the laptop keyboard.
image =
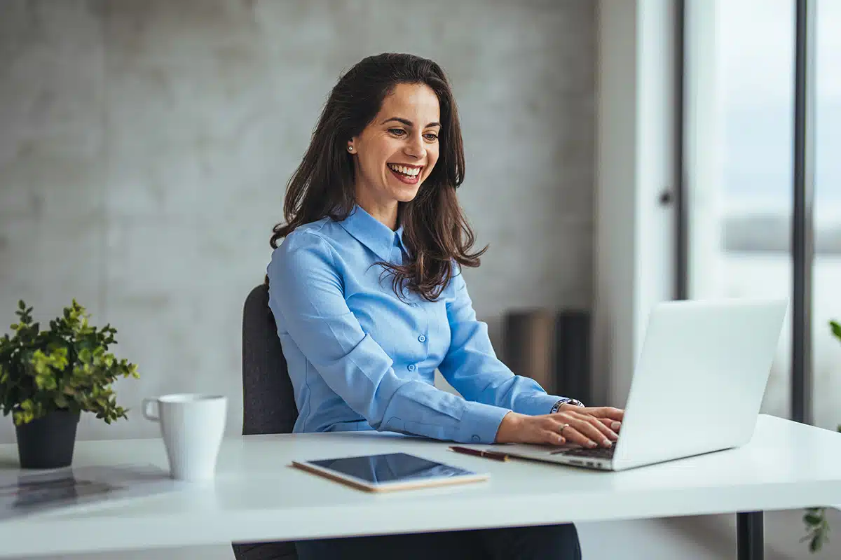
<svg viewBox="0 0 841 560">
<path fill-rule="evenodd" d="M 617 409 L 616 412 L 621 411 Z M 565 425 L 568 427 L 564 428 Z M 500 422 L 496 442 L 563 445 L 567 442 L 564 436 L 569 437 L 569 442 L 583 447 L 611 447 L 617 439 L 616 432 L 607 427 L 605 421 L 590 414 L 560 412 L 528 416 L 511 411 Z"/>
</svg>

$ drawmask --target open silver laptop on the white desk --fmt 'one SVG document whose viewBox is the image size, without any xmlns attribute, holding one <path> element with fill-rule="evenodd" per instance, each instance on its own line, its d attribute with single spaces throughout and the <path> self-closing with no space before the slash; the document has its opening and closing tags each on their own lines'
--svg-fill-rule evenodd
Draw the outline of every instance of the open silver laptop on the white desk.
<svg viewBox="0 0 841 560">
<path fill-rule="evenodd" d="M 754 435 L 787 307 L 785 300 L 660 303 L 648 317 L 612 447 L 493 449 L 618 471 L 742 446 Z"/>
</svg>

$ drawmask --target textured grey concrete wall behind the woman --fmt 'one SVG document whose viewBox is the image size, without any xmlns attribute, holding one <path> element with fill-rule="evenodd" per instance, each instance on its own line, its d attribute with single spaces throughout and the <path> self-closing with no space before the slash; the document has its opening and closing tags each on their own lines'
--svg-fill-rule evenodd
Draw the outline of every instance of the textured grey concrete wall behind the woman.
<svg viewBox="0 0 841 560">
<path fill-rule="evenodd" d="M 327 92 L 365 55 L 439 61 L 463 119 L 463 206 L 490 243 L 468 285 L 499 341 L 507 307 L 592 297 L 595 3 L 122 0 L 0 3 L 0 332 L 71 298 L 118 328 L 137 407 L 230 395 L 285 182 Z M 0 420 L 0 442 L 13 441 Z"/>
</svg>

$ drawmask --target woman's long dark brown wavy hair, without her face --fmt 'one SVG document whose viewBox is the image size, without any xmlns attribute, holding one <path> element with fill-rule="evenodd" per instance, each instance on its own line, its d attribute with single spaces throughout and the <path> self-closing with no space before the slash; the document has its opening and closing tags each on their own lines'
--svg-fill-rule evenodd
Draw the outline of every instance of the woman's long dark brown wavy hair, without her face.
<svg viewBox="0 0 841 560">
<path fill-rule="evenodd" d="M 327 99 L 309 148 L 288 182 L 283 202 L 286 222 L 272 234 L 278 239 L 305 223 L 329 216 L 344 220 L 356 205 L 349 139 L 377 116 L 383 99 L 398 84 L 425 84 L 441 110 L 440 154 L 415 199 L 401 202 L 399 220 L 409 255 L 404 264 L 381 262 L 394 275 L 394 291 L 405 288 L 433 301 L 452 278 L 452 262 L 479 266 L 485 247 L 471 252 L 475 236 L 458 204 L 456 188 L 464 180 L 464 148 L 456 102 L 441 66 L 415 55 L 368 56 L 341 76 Z"/>
</svg>

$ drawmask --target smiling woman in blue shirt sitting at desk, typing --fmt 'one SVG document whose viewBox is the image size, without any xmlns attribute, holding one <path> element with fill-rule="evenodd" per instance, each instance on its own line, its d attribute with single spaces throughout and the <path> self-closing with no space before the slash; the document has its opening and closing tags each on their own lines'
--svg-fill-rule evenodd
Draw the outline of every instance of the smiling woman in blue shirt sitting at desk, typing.
<svg viewBox="0 0 841 560">
<path fill-rule="evenodd" d="M 622 411 L 547 395 L 496 359 L 461 275 L 484 253 L 458 205 L 463 177 L 456 104 L 436 63 L 383 54 L 341 77 L 289 181 L 267 268 L 294 431 L 609 447 Z M 435 369 L 463 399 L 436 389 Z M 297 547 L 302 560 L 580 557 L 572 525 Z"/>
</svg>

